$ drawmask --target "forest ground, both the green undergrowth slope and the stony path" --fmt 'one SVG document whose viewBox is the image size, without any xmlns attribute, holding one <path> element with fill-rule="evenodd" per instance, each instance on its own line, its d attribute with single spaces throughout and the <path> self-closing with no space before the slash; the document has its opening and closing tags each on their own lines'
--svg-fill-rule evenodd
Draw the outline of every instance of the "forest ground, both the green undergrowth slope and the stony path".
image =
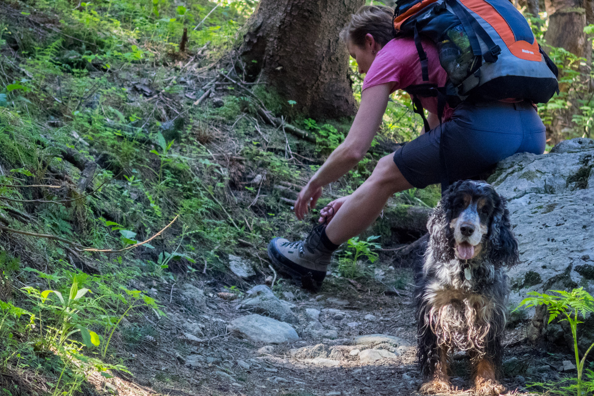
<svg viewBox="0 0 594 396">
<path fill-rule="evenodd" d="M 398 121 L 297 221 L 296 194 L 350 121 L 292 117 L 246 81 L 233 48 L 248 8 L 217 5 L 182 53 L 184 28 L 215 4 L 138 4 L 0 3 L 0 395 L 413 394 L 412 275 L 394 249 L 426 232 L 439 186 L 396 194 L 359 240 L 377 236 L 386 251 L 353 267 L 343 248 L 319 294 L 277 277 L 266 257 L 268 240 L 301 239 L 319 208 L 361 185 L 397 147 L 394 130 L 418 134 L 410 98 L 394 97 Z M 256 274 L 234 275 L 229 255 Z M 300 337 L 264 353 L 227 331 L 251 313 L 236 306 L 258 284 L 295 305 Z M 200 301 L 184 297 L 188 285 Z M 333 337 L 312 336 L 312 309 Z M 526 329 L 518 320 L 507 332 L 510 392 L 557 381 L 570 360 L 528 346 Z M 353 338 L 368 334 L 407 346 L 362 363 Z M 316 356 L 295 351 L 310 346 Z"/>
</svg>

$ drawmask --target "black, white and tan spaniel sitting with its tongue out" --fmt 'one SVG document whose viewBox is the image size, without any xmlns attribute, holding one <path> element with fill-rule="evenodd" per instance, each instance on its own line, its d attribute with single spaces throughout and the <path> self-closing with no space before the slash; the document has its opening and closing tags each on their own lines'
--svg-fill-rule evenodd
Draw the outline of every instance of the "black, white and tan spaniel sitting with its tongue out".
<svg viewBox="0 0 594 396">
<path fill-rule="evenodd" d="M 415 271 L 422 394 L 452 389 L 448 357 L 466 351 L 473 391 L 498 395 L 507 315 L 505 267 L 519 258 L 505 199 L 485 182 L 462 180 L 445 191 L 427 223 L 429 242 Z M 420 261 L 420 260 L 419 260 Z"/>
</svg>

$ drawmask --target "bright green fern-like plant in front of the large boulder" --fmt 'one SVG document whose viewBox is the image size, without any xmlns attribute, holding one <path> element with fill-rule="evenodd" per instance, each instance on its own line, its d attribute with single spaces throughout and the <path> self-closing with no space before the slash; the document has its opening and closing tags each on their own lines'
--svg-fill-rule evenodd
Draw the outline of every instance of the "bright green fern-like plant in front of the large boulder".
<svg viewBox="0 0 594 396">
<path fill-rule="evenodd" d="M 557 293 L 558 295 L 528 292 L 527 294 L 530 297 L 523 299 L 516 309 L 522 307 L 529 308 L 537 305 L 545 305 L 547 311 L 549 312 L 549 324 L 557 318 L 560 318 L 558 319 L 560 322 L 568 322 L 571 328 L 571 336 L 573 337 L 573 350 L 576 357 L 577 367 L 577 381 L 575 381 L 576 384 L 570 384 L 567 387 L 563 387 L 562 389 L 565 392 L 571 392 L 572 394 L 575 391 L 577 396 L 582 396 L 582 388 L 584 385 L 582 380 L 584 362 L 586 362 L 587 354 L 590 352 L 590 350 L 592 350 L 592 347 L 594 347 L 594 343 L 590 345 L 580 360 L 579 350 L 577 349 L 577 325 L 583 323 L 580 321 L 580 318 L 586 316 L 587 313 L 594 312 L 594 297 L 592 297 L 590 293 L 583 290 L 582 287 L 579 289 L 573 289 L 571 292 L 565 292 L 564 290 L 549 290 L 549 292 Z M 594 379 L 594 372 L 592 372 L 592 370 L 587 370 L 587 373 L 590 379 Z M 594 382 L 589 381 L 586 385 L 586 392 L 591 392 L 594 390 Z"/>
</svg>

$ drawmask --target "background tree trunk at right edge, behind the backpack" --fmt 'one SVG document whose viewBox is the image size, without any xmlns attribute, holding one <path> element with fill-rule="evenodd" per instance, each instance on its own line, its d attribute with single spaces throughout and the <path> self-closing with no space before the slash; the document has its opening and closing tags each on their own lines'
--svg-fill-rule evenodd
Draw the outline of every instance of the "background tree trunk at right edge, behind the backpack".
<svg viewBox="0 0 594 396">
<path fill-rule="evenodd" d="M 586 59 L 583 64 L 576 65 L 582 75 L 582 83 L 586 85 L 586 94 L 592 91 L 590 81 L 590 68 L 592 63 L 592 41 L 591 37 L 584 33 L 587 24 L 594 23 L 594 12 L 592 0 L 545 0 L 546 12 L 549 15 L 549 27 L 544 39 L 547 45 L 563 47 L 565 50 Z M 548 52 L 548 47 L 545 48 Z M 560 90 L 568 92 L 568 84 L 560 84 Z M 582 93 L 569 93 L 568 102 L 571 106 L 565 110 L 559 110 L 558 116 L 554 117 L 551 125 L 547 127 L 547 138 L 549 144 L 557 144 L 564 139 L 565 132 L 576 128 L 571 121 L 573 114 L 580 113 L 578 102 Z"/>
</svg>

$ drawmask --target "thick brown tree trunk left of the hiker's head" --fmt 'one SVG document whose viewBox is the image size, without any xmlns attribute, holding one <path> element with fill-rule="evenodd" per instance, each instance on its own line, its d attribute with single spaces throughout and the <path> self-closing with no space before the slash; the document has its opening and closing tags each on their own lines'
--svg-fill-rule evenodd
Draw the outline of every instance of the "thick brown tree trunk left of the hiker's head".
<svg viewBox="0 0 594 396">
<path fill-rule="evenodd" d="M 362 5 L 364 0 L 261 0 L 239 49 L 247 80 L 260 76 L 290 113 L 353 115 L 349 53 L 339 32 Z"/>
</svg>

